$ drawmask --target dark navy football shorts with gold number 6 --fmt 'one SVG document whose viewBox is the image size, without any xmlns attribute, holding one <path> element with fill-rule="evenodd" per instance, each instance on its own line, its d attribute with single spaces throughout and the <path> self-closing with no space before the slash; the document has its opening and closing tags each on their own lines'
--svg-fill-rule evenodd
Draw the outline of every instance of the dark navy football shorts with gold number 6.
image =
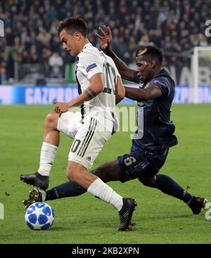
<svg viewBox="0 0 211 258">
<path fill-rule="evenodd" d="M 131 148 L 129 154 L 117 157 L 122 169 L 120 181 L 124 183 L 139 176 L 154 176 L 164 165 L 168 148 L 162 150 L 146 150 L 144 148 Z"/>
</svg>

